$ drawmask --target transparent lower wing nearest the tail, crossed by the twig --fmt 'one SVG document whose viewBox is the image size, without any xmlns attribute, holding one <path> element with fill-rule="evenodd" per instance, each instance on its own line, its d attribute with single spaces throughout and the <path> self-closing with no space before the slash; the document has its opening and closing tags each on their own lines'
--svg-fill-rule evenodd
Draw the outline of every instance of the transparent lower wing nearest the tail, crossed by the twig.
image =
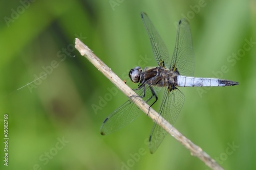
<svg viewBox="0 0 256 170">
<path fill-rule="evenodd" d="M 169 91 L 166 87 L 163 101 L 161 103 L 159 114 L 174 126 L 176 119 L 184 104 L 185 96 L 179 89 Z M 162 143 L 167 132 L 156 123 L 154 124 L 150 135 L 150 152 L 153 154 Z"/>
</svg>

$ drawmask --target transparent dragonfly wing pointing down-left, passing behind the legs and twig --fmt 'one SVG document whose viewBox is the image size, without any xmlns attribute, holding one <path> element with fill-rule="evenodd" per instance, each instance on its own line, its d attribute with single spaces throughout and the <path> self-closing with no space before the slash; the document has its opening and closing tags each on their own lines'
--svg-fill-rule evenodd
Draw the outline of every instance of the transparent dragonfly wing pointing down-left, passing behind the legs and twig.
<svg viewBox="0 0 256 170">
<path fill-rule="evenodd" d="M 156 101 L 156 98 L 150 89 L 151 87 L 155 94 L 161 89 L 161 87 L 153 87 L 145 83 L 139 90 L 135 90 L 138 96 L 143 96 L 143 94 L 145 94 L 142 99 L 150 106 Z M 131 96 L 131 98 L 139 98 L 138 96 Z M 133 122 L 133 120 L 135 120 L 141 113 L 142 111 L 132 102 L 132 100 L 129 100 L 105 118 L 101 125 L 100 133 L 102 135 L 110 134 Z"/>
</svg>

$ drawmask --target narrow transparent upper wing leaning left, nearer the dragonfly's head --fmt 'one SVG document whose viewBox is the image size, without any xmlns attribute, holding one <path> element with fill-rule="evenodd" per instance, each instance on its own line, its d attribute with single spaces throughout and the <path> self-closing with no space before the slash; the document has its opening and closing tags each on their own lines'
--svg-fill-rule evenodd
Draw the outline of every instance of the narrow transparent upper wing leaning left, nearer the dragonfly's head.
<svg viewBox="0 0 256 170">
<path fill-rule="evenodd" d="M 148 18 L 146 13 L 141 12 L 141 18 L 146 28 L 147 34 L 150 37 L 151 46 L 154 56 L 157 60 L 157 64 L 162 67 L 169 68 L 169 54 L 162 38 L 156 31 L 153 23 L 151 22 L 150 18 Z"/>
</svg>

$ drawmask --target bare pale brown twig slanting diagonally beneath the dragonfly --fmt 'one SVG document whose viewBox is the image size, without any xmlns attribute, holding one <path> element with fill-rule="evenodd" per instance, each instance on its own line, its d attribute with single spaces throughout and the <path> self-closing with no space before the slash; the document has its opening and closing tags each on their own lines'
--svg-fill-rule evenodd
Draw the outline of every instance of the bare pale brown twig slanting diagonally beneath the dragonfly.
<svg viewBox="0 0 256 170">
<path fill-rule="evenodd" d="M 115 86 L 117 86 L 126 96 L 137 95 L 129 86 L 127 86 L 108 66 L 106 66 L 88 46 L 84 45 L 78 38 L 75 40 L 75 48 L 80 54 L 86 57 L 98 70 L 100 70 L 105 77 L 107 77 Z M 191 155 L 198 157 L 211 169 L 223 169 L 214 159 L 206 154 L 200 147 L 195 145 L 185 136 L 183 136 L 177 129 L 170 125 L 163 117 L 161 117 L 154 109 L 150 109 L 141 98 L 130 98 L 133 102 L 150 118 L 153 119 L 160 127 L 166 130 L 171 136 L 178 140 L 187 148 Z"/>
</svg>

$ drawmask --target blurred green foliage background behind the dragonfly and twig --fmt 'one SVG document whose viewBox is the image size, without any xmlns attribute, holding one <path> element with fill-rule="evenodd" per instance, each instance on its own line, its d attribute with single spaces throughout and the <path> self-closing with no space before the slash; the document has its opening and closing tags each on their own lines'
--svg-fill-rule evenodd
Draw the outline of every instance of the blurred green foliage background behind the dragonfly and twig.
<svg viewBox="0 0 256 170">
<path fill-rule="evenodd" d="M 74 40 L 80 38 L 135 88 L 129 70 L 138 63 L 156 66 L 141 11 L 170 56 L 176 23 L 187 17 L 194 75 L 240 83 L 179 88 L 186 99 L 175 127 L 225 169 L 256 169 L 256 2 L 244 0 L 2 1 L 0 169 L 209 169 L 170 136 L 151 155 L 145 141 L 153 122 L 145 115 L 111 135 L 99 133 L 104 118 L 127 98 L 80 56 Z"/>
</svg>

